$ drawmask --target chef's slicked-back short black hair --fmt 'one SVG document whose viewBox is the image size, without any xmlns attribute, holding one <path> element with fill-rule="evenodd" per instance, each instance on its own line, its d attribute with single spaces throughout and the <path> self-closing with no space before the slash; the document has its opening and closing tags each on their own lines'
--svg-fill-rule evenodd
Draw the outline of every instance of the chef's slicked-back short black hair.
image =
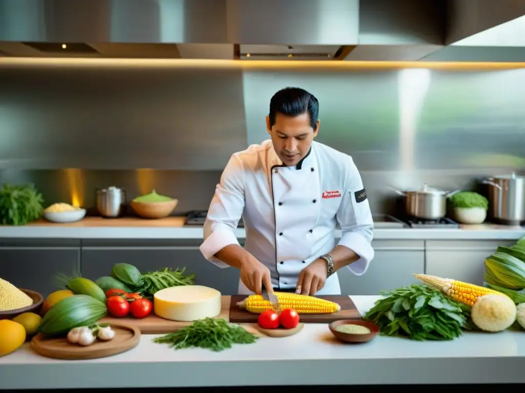
<svg viewBox="0 0 525 393">
<path fill-rule="evenodd" d="M 270 126 L 275 124 L 277 113 L 286 116 L 298 116 L 305 112 L 310 115 L 310 125 L 316 128 L 319 118 L 319 101 L 316 96 L 300 88 L 279 90 L 270 100 Z"/>
</svg>

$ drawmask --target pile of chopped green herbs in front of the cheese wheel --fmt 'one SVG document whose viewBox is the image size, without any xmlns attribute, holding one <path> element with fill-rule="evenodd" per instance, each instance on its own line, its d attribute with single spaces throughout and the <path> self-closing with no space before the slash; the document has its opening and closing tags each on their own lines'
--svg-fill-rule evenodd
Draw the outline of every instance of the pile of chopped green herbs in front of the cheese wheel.
<svg viewBox="0 0 525 393">
<path fill-rule="evenodd" d="M 200 347 L 220 352 L 232 348 L 233 344 L 255 343 L 258 338 L 242 326 L 228 323 L 225 319 L 205 318 L 174 333 L 155 337 L 153 342 L 169 344 L 175 350 Z"/>
</svg>

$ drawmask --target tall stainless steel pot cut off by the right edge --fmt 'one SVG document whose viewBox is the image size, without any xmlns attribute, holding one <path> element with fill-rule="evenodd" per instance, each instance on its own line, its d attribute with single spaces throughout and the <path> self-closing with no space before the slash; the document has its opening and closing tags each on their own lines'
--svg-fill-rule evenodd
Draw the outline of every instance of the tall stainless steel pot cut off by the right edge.
<svg viewBox="0 0 525 393">
<path fill-rule="evenodd" d="M 525 223 L 525 176 L 512 172 L 482 181 L 489 185 L 489 216 L 507 225 Z"/>
</svg>

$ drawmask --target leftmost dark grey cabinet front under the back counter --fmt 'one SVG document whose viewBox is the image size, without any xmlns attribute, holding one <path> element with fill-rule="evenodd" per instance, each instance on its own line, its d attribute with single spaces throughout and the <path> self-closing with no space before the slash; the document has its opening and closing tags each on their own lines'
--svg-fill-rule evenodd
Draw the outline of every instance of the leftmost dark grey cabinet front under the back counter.
<svg viewBox="0 0 525 393">
<path fill-rule="evenodd" d="M 44 297 L 59 289 L 55 276 L 80 272 L 80 241 L 0 239 L 0 277 Z"/>
</svg>

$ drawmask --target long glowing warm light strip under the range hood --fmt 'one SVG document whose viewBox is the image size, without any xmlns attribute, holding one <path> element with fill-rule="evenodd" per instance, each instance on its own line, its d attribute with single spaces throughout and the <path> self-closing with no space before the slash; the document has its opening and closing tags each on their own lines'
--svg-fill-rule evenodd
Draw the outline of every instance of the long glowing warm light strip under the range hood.
<svg viewBox="0 0 525 393">
<path fill-rule="evenodd" d="M 219 60 L 219 59 L 94 59 L 94 58 L 0 58 L 2 65 L 18 67 L 137 67 L 223 69 L 405 69 L 510 70 L 525 62 L 430 62 L 430 61 L 334 61 L 334 60 Z"/>
</svg>

